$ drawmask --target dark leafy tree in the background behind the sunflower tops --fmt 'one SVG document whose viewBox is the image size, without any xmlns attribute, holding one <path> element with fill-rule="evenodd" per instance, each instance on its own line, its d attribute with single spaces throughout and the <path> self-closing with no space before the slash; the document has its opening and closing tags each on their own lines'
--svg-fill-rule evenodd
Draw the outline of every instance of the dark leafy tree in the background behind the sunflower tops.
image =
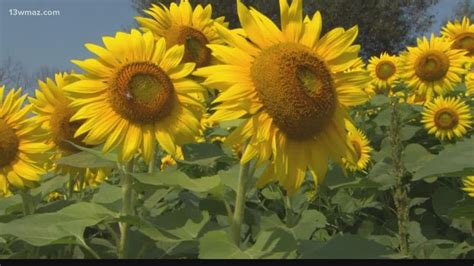
<svg viewBox="0 0 474 266">
<path fill-rule="evenodd" d="M 140 14 L 152 3 L 169 5 L 179 0 L 131 0 Z M 273 21 L 279 20 L 278 0 L 243 0 L 254 6 Z M 382 51 L 398 53 L 415 36 L 432 25 L 434 15 L 426 12 L 438 0 L 306 0 L 306 14 L 320 10 L 323 16 L 323 31 L 334 27 L 359 26 L 357 42 L 362 45 L 363 55 L 368 57 Z M 225 16 L 231 27 L 238 27 L 239 20 L 235 0 L 191 0 L 193 5 L 213 5 L 214 16 Z"/>
</svg>

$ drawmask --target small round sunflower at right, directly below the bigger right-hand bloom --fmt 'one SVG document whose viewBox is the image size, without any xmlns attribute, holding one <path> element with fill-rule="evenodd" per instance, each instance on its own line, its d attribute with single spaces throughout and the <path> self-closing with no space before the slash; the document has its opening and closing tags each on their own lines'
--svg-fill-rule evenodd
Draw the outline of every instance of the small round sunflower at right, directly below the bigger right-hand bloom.
<svg viewBox="0 0 474 266">
<path fill-rule="evenodd" d="M 440 96 L 426 103 L 421 122 L 429 134 L 444 140 L 465 135 L 471 127 L 471 119 L 469 106 L 461 99 Z"/>
</svg>

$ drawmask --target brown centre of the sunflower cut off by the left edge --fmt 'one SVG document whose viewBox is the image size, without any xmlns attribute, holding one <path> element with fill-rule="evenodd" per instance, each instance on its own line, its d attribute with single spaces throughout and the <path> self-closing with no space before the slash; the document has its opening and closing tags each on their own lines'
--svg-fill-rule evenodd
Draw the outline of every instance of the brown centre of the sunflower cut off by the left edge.
<svg viewBox="0 0 474 266">
<path fill-rule="evenodd" d="M 15 131 L 0 118 L 0 167 L 13 162 L 18 154 L 20 140 Z"/>
</svg>

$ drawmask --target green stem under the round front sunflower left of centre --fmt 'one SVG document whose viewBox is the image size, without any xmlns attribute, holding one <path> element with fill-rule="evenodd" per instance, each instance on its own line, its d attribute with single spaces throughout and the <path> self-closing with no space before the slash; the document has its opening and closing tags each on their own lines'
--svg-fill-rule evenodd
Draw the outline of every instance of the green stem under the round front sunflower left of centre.
<svg viewBox="0 0 474 266">
<path fill-rule="evenodd" d="M 133 215 L 133 165 L 135 160 L 132 159 L 126 165 L 123 166 L 122 175 L 122 216 Z M 127 238 L 129 224 L 127 222 L 120 222 L 120 243 L 117 249 L 117 256 L 119 259 L 125 259 L 127 257 Z"/>
</svg>

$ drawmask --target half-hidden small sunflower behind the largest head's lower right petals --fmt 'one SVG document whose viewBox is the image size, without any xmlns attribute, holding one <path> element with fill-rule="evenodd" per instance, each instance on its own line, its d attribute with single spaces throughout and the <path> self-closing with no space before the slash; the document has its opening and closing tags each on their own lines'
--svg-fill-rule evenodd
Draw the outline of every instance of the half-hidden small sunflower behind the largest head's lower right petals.
<svg viewBox="0 0 474 266">
<path fill-rule="evenodd" d="M 349 124 L 347 137 L 356 151 L 355 164 L 346 163 L 346 168 L 351 171 L 364 171 L 370 161 L 370 153 L 373 151 L 367 136 L 360 130 Z"/>
</svg>

